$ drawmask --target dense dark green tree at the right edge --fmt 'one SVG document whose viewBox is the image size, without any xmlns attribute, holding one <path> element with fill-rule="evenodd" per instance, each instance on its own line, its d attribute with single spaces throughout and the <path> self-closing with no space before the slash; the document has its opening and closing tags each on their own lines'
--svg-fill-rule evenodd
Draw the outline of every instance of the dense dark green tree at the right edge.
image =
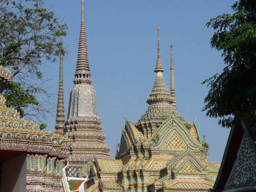
<svg viewBox="0 0 256 192">
<path fill-rule="evenodd" d="M 202 83 L 210 87 L 203 111 L 227 128 L 256 121 L 256 1 L 240 0 L 231 8 L 233 14 L 206 23 L 215 30 L 210 43 L 226 67 Z"/>
</svg>

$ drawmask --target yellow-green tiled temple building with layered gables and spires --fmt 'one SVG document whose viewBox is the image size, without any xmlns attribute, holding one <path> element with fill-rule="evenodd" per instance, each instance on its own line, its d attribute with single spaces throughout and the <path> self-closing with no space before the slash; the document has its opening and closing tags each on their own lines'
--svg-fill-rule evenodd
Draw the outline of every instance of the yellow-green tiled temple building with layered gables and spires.
<svg viewBox="0 0 256 192">
<path fill-rule="evenodd" d="M 156 77 L 148 110 L 137 123 L 124 117 L 116 159 L 95 155 L 95 162 L 84 166 L 89 174 L 86 192 L 206 192 L 214 184 L 220 163 L 207 161 L 195 122 L 189 123 L 176 110 L 172 46 L 170 93 L 162 73 L 159 26 L 157 31 Z"/>
</svg>

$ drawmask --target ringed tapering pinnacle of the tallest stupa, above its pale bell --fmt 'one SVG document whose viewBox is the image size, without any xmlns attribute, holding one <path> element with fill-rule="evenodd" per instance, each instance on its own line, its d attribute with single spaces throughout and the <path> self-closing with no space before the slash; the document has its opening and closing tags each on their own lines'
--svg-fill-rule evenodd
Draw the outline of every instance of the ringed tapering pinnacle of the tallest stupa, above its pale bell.
<svg viewBox="0 0 256 192">
<path fill-rule="evenodd" d="M 84 20 L 84 0 L 81 1 L 81 27 L 78 45 L 78 57 L 76 62 L 76 73 L 74 84 L 91 84 L 91 73 L 88 62 L 87 42 Z"/>
</svg>

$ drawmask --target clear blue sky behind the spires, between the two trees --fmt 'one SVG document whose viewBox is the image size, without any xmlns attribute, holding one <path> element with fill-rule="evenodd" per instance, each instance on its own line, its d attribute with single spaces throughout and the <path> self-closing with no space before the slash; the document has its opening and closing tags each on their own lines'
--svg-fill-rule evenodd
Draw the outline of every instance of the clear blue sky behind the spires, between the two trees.
<svg viewBox="0 0 256 192">
<path fill-rule="evenodd" d="M 120 142 L 123 114 L 136 122 L 147 110 L 146 100 L 152 89 L 157 58 L 157 22 L 160 27 L 160 55 L 165 83 L 170 91 L 170 45 L 178 112 L 188 121 L 200 125 L 199 135 L 210 145 L 210 161 L 221 161 L 229 129 L 218 120 L 205 116 L 204 97 L 208 88 L 204 79 L 225 67 L 220 52 L 211 49 L 213 30 L 205 23 L 222 13 L 232 12 L 235 1 L 172 1 L 172 0 L 85 0 L 85 20 L 92 73 L 92 86 L 97 93 L 106 144 L 115 156 L 116 136 Z M 47 7 L 68 23 L 68 46 L 64 61 L 64 97 L 66 115 L 69 92 L 73 88 L 80 28 L 80 0 L 46 0 Z M 51 64 L 51 85 L 58 84 L 59 63 Z M 57 86 L 52 89 L 57 91 Z M 57 102 L 57 97 L 56 97 Z M 55 117 L 47 129 L 54 132 Z M 124 124 L 124 123 L 123 123 Z"/>
</svg>

